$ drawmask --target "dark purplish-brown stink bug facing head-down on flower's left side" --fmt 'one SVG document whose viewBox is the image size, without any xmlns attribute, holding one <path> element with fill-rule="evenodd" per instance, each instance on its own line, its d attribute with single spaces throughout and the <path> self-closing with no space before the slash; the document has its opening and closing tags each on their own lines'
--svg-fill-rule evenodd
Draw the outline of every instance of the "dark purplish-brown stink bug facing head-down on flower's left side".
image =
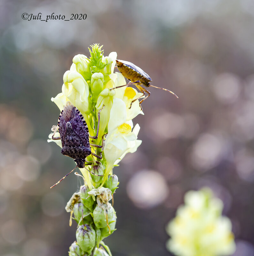
<svg viewBox="0 0 254 256">
<path fill-rule="evenodd" d="M 61 153 L 65 156 L 73 158 L 77 164 L 76 167 L 84 168 L 86 163 L 86 157 L 88 157 L 91 154 L 99 159 L 102 159 L 101 156 L 98 156 L 91 151 L 91 146 L 97 148 L 102 148 L 103 146 L 90 144 L 89 142 L 89 138 L 98 138 L 101 110 L 98 112 L 98 127 L 96 136 L 89 136 L 87 123 L 84 120 L 84 117 L 82 116 L 81 112 L 76 107 L 74 107 L 69 101 L 66 102 L 64 109 L 61 111 L 59 115 L 58 125 L 55 128 L 55 131 L 52 135 L 52 139 L 61 140 Z M 59 130 L 60 137 L 54 137 L 57 130 Z M 73 170 L 75 170 L 75 168 Z M 73 170 L 70 171 L 67 175 L 73 172 Z M 56 186 L 67 175 L 65 175 L 61 180 L 59 180 L 55 185 L 51 186 L 50 188 Z"/>
</svg>

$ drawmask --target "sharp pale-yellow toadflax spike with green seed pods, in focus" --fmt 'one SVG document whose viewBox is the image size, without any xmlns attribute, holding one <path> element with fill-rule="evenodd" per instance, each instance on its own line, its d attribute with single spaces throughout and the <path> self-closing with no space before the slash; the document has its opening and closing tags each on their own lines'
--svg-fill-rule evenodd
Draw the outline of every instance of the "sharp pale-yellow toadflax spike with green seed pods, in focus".
<svg viewBox="0 0 254 256">
<path fill-rule="evenodd" d="M 140 127 L 138 124 L 133 127 L 132 119 L 143 112 L 138 100 L 129 107 L 142 93 L 131 87 L 110 90 L 126 84 L 122 74 L 114 73 L 117 53 L 111 52 L 105 57 L 98 44 L 91 45 L 89 51 L 89 58 L 82 54 L 74 56 L 70 70 L 64 74 L 62 92 L 51 98 L 60 111 L 66 103 L 75 106 L 83 115 L 90 136 L 96 136 L 100 112 L 98 137 L 90 143 L 92 153 L 101 159 L 92 154 L 86 158 L 86 167 L 79 168 L 84 185 L 65 207 L 71 214 L 70 225 L 72 220 L 78 224 L 69 256 L 111 255 L 103 239 L 112 234 L 116 226 L 116 213 L 110 201 L 119 182 L 112 169 L 141 144 L 141 140 L 137 140 Z M 60 140 L 52 140 L 52 135 L 48 142 L 54 141 L 62 147 Z M 60 136 L 58 130 L 54 136 Z M 103 145 L 103 148 L 92 144 Z"/>
</svg>

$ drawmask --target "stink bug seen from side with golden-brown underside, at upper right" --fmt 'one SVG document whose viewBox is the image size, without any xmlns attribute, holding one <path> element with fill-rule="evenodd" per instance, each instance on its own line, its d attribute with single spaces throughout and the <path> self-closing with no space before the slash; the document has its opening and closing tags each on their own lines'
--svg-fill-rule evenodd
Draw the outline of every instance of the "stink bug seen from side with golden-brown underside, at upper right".
<svg viewBox="0 0 254 256">
<path fill-rule="evenodd" d="M 129 61 L 120 60 L 120 59 L 116 60 L 116 64 L 117 64 L 117 67 L 118 67 L 119 71 L 121 72 L 121 74 L 131 82 L 126 84 L 126 85 L 121 85 L 121 86 L 111 88 L 110 90 L 117 89 L 117 88 L 120 88 L 120 87 L 123 87 L 123 86 L 129 86 L 131 84 L 135 84 L 136 87 L 143 93 L 142 96 L 134 99 L 131 102 L 131 105 L 135 100 L 140 99 L 141 97 L 143 97 L 145 95 L 145 93 L 147 93 L 148 95 L 144 99 L 142 99 L 139 103 L 139 105 L 141 107 L 141 103 L 150 96 L 150 94 L 151 94 L 150 91 L 143 88 L 142 86 L 145 86 L 145 87 L 152 86 L 152 87 L 155 87 L 155 88 L 158 88 L 158 89 L 162 89 L 162 90 L 165 90 L 165 91 L 168 91 L 168 92 L 172 93 L 175 97 L 178 98 L 178 96 L 176 96 L 170 90 L 151 85 L 150 82 L 152 81 L 152 79 L 150 78 L 150 76 L 148 74 L 146 74 L 140 67 L 136 66 L 135 64 L 133 64 Z M 129 108 L 131 108 L 131 105 L 130 105 Z M 142 107 L 141 107 L 141 109 L 142 109 Z"/>
</svg>

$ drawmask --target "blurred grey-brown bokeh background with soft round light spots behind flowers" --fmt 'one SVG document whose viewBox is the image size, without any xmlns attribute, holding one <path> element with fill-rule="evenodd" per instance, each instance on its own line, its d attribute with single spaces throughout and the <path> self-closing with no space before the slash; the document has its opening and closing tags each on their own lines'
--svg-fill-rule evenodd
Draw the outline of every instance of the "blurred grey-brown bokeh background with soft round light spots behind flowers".
<svg viewBox="0 0 254 256">
<path fill-rule="evenodd" d="M 86 20 L 23 20 L 22 13 Z M 48 144 L 50 101 L 76 54 L 104 44 L 153 84 L 142 145 L 114 168 L 114 256 L 171 255 L 166 223 L 191 189 L 209 186 L 233 223 L 234 256 L 254 255 L 254 2 L 252 0 L 0 1 L 0 255 L 67 255 L 65 204 L 81 181 Z"/>
</svg>

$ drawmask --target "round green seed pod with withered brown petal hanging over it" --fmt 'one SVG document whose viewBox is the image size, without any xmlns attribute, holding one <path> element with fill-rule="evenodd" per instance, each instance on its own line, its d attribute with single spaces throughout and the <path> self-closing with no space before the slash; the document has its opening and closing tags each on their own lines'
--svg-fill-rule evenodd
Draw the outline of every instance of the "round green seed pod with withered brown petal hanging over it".
<svg viewBox="0 0 254 256">
<path fill-rule="evenodd" d="M 106 209 L 108 209 L 106 211 Z M 93 212 L 94 217 L 94 223 L 97 228 L 105 228 L 107 227 L 107 219 L 108 223 L 111 223 L 111 221 L 114 219 L 115 216 L 115 210 L 112 207 L 110 203 L 104 204 L 102 206 L 96 206 Z"/>
</svg>

